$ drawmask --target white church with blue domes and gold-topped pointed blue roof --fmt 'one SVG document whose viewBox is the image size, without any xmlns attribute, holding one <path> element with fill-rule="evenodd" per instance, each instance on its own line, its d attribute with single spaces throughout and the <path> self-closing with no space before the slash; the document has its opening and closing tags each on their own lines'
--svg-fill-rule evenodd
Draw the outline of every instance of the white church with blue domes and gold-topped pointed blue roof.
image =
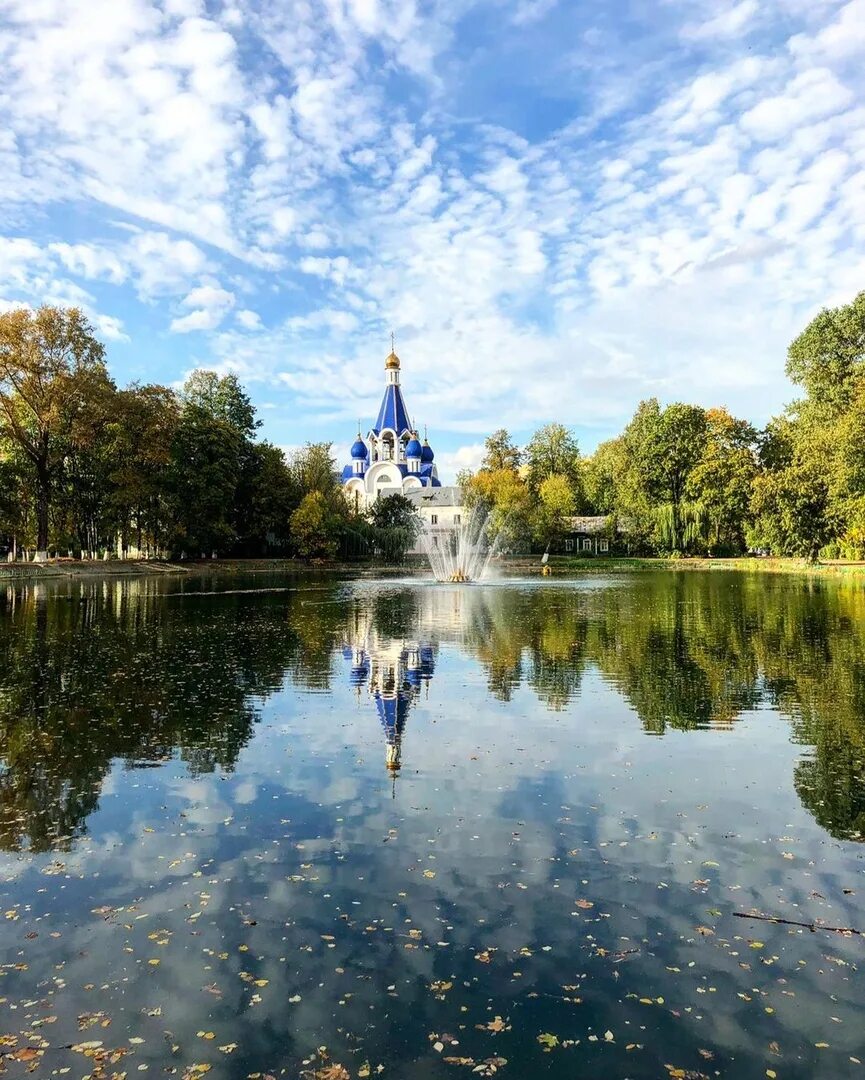
<svg viewBox="0 0 865 1080">
<path fill-rule="evenodd" d="M 366 436 L 357 432 L 351 462 L 342 470 L 346 497 L 357 511 L 382 496 L 409 496 L 442 486 L 432 447 L 425 436 L 420 442 L 409 418 L 400 387 L 400 357 L 393 349 L 384 361 L 384 396 L 376 424 Z"/>
</svg>

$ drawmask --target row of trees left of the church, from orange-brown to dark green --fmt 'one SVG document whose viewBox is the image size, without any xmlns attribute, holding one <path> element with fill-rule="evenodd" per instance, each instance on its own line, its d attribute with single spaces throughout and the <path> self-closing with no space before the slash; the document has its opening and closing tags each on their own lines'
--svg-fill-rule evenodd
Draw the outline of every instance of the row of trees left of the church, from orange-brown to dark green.
<svg viewBox="0 0 865 1080">
<path fill-rule="evenodd" d="M 2 314 L 0 546 L 190 558 L 410 546 L 407 500 L 353 514 L 329 444 L 286 459 L 259 423 L 233 375 L 193 372 L 179 392 L 118 388 L 77 309 Z"/>
</svg>

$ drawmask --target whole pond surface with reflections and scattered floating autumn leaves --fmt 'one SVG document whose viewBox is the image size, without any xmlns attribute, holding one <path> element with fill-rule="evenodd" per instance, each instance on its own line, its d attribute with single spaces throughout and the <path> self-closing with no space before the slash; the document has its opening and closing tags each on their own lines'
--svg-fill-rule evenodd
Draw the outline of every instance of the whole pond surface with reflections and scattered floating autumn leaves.
<svg viewBox="0 0 865 1080">
<path fill-rule="evenodd" d="M 865 590 L 0 592 L 12 1076 L 846 1077 Z"/>
</svg>

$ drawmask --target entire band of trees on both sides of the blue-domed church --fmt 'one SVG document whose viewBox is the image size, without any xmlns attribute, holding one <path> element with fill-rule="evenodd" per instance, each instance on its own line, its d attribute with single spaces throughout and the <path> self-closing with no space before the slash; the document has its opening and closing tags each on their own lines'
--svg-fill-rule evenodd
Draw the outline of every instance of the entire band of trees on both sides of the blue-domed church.
<svg viewBox="0 0 865 1080">
<path fill-rule="evenodd" d="M 499 430 L 459 483 L 511 550 L 549 546 L 587 514 L 634 553 L 865 557 L 864 362 L 861 293 L 790 345 L 802 395 L 761 431 L 725 408 L 650 399 L 589 457 L 558 422 L 525 447 Z M 420 527 L 408 500 L 359 514 L 329 444 L 287 460 L 258 427 L 232 375 L 121 389 L 80 311 L 2 314 L 0 545 L 403 557 Z"/>
</svg>

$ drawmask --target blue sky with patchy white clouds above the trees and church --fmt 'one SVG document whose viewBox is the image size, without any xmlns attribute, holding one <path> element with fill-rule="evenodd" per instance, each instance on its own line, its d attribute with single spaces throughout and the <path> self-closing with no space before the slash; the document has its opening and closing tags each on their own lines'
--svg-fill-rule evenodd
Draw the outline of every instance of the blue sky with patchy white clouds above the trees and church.
<svg viewBox="0 0 865 1080">
<path fill-rule="evenodd" d="M 865 287 L 865 0 L 0 0 L 0 308 L 440 474 L 637 403 L 763 423 Z"/>
</svg>

